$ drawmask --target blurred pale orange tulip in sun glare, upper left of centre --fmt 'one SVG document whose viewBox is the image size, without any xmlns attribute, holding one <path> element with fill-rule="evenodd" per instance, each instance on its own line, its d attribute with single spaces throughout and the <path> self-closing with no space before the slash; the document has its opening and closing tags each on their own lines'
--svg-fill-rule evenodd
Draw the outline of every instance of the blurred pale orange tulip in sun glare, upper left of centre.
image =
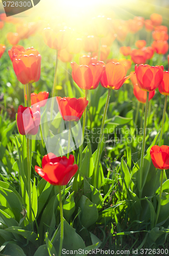
<svg viewBox="0 0 169 256">
<path fill-rule="evenodd" d="M 55 33 L 51 28 L 43 30 L 45 44 L 51 49 L 62 50 L 67 47 L 71 39 L 71 29 L 67 28 Z"/>
</svg>

